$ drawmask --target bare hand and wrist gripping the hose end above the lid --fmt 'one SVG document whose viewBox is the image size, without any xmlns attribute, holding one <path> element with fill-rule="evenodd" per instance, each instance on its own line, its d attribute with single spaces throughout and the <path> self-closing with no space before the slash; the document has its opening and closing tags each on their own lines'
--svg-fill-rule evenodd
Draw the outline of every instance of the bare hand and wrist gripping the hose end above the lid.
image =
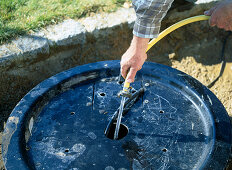
<svg viewBox="0 0 232 170">
<path fill-rule="evenodd" d="M 147 59 L 147 46 L 149 38 L 140 38 L 134 36 L 130 47 L 121 58 L 121 74 L 128 83 L 134 82 L 135 75 Z"/>
</svg>

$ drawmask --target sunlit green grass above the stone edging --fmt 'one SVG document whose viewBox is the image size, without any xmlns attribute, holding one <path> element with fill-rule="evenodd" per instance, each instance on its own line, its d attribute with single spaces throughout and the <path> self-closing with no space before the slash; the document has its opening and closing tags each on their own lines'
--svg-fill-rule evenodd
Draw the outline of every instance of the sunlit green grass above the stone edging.
<svg viewBox="0 0 232 170">
<path fill-rule="evenodd" d="M 128 0 L 0 0 L 0 44 L 68 18 L 112 12 Z"/>
</svg>

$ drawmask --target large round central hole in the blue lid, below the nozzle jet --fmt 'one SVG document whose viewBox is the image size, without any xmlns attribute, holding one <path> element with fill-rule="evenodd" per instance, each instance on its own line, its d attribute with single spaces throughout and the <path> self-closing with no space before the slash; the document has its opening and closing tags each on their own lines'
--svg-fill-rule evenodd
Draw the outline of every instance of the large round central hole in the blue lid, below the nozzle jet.
<svg viewBox="0 0 232 170">
<path fill-rule="evenodd" d="M 116 129 L 116 123 L 113 123 L 109 129 L 109 133 L 108 135 L 106 135 L 107 138 L 114 140 L 114 132 Z M 118 132 L 118 139 L 116 140 L 120 140 L 122 138 L 124 138 L 129 132 L 129 129 L 126 125 L 124 124 L 120 124 L 120 128 L 119 128 L 119 132 Z"/>
</svg>

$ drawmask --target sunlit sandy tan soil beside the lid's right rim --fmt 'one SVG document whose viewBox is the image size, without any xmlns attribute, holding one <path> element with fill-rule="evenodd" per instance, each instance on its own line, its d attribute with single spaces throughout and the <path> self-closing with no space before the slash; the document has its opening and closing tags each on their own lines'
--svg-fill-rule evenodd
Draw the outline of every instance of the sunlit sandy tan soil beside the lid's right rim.
<svg viewBox="0 0 232 170">
<path fill-rule="evenodd" d="M 203 65 L 193 57 L 186 57 L 181 61 L 172 61 L 172 67 L 183 71 L 205 86 L 209 85 L 219 75 L 221 64 Z M 232 117 L 232 63 L 227 63 L 223 75 L 210 90 L 218 97 Z"/>
</svg>

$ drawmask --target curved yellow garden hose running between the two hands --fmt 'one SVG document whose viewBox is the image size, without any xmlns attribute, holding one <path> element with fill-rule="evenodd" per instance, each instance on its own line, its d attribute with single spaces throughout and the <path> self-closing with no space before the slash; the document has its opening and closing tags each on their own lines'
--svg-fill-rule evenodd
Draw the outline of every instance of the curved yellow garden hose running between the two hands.
<svg viewBox="0 0 232 170">
<path fill-rule="evenodd" d="M 184 25 L 190 24 L 192 22 L 197 22 L 197 21 L 203 21 L 203 20 L 208 20 L 210 17 L 206 16 L 206 15 L 199 15 L 199 16 L 195 16 L 195 17 L 190 17 L 187 19 L 184 19 L 180 22 L 177 22 L 173 25 L 171 25 L 170 27 L 168 27 L 167 29 L 165 29 L 164 31 L 162 31 L 159 36 L 157 38 L 153 38 L 149 43 L 148 43 L 148 47 L 147 47 L 147 51 L 153 46 L 155 45 L 159 40 L 161 40 L 162 38 L 164 38 L 166 35 L 168 35 L 169 33 L 171 33 L 172 31 L 176 30 L 177 28 L 180 28 Z M 147 52 L 146 51 L 146 52 Z M 124 83 L 124 88 L 128 89 L 130 87 L 130 83 L 125 82 Z"/>
</svg>

